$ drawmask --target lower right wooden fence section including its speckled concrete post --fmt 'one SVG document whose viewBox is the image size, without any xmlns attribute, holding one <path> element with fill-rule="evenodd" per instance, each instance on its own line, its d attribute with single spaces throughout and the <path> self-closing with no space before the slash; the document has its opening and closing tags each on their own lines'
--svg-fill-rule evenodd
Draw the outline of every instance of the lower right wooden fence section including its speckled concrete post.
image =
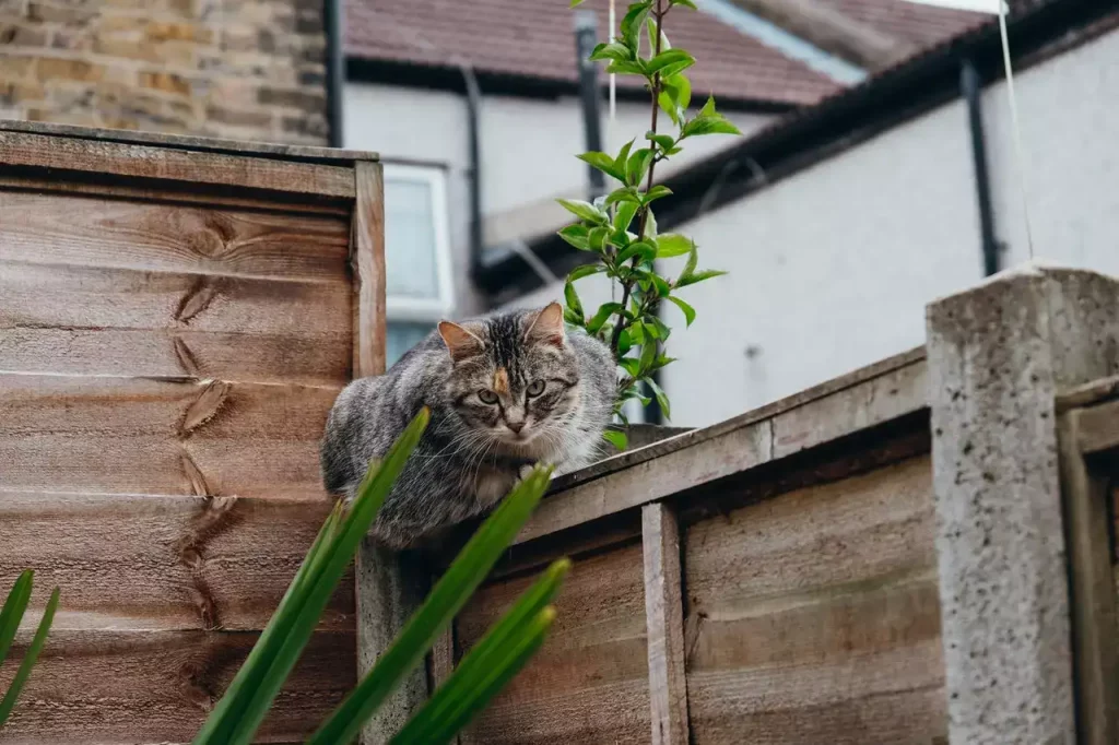
<svg viewBox="0 0 1119 745">
<path fill-rule="evenodd" d="M 461 742 L 1119 742 L 1119 282 L 1029 266 L 928 327 L 558 480 L 432 658 L 438 683 L 575 559 L 548 643 Z"/>
</svg>

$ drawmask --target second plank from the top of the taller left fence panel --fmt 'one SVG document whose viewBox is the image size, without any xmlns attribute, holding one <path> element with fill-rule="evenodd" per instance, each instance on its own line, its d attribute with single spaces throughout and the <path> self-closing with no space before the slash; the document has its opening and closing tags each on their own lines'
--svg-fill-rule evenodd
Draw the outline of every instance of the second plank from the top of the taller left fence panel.
<svg viewBox="0 0 1119 745">
<path fill-rule="evenodd" d="M 0 263 L 0 372 L 345 385 L 350 290 Z"/>
</svg>

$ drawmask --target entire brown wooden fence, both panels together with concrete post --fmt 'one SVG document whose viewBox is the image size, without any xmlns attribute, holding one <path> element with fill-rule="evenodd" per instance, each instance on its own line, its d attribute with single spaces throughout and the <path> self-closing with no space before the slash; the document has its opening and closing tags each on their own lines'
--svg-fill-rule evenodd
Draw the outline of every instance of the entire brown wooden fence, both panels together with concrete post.
<svg viewBox="0 0 1119 745">
<path fill-rule="evenodd" d="M 190 739 L 328 509 L 335 395 L 383 368 L 380 210 L 360 153 L 0 124 L 0 584 L 63 592 L 0 742 Z M 549 642 L 461 743 L 1117 742 L 1119 282 L 1029 266 L 928 329 L 557 480 L 366 741 L 567 555 Z M 451 549 L 364 548 L 262 742 Z"/>
</svg>

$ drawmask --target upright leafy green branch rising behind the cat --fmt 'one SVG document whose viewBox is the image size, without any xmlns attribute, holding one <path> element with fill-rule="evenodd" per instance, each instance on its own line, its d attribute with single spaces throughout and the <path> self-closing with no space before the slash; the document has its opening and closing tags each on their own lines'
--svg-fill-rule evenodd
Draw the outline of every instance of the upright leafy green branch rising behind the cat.
<svg viewBox="0 0 1119 745">
<path fill-rule="evenodd" d="M 571 6 L 574 8 L 582 2 L 573 0 Z M 695 57 L 684 49 L 673 48 L 664 30 L 666 17 L 678 6 L 695 10 L 692 0 L 632 3 L 619 25 L 618 37 L 594 48 L 591 59 L 606 63 L 606 73 L 645 79 L 650 94 L 650 125 L 636 149 L 637 138 L 614 155 L 605 152 L 579 155 L 580 160 L 617 181 L 618 188 L 593 204 L 560 200 L 579 218 L 574 225 L 560 230 L 560 237 L 595 255 L 594 262 L 567 275 L 564 319 L 610 345 L 620 368 L 614 414 L 622 421 L 626 421 L 622 406 L 627 400 L 637 398 L 649 404 L 642 386 L 652 392 L 665 415 L 670 415 L 668 397 L 652 379 L 653 372 L 673 361 L 665 355 L 670 329 L 660 320 L 661 301 L 676 305 L 684 313 L 686 326 L 692 326 L 695 309 L 676 292 L 724 274 L 715 270 L 699 271 L 695 243 L 679 234 L 658 233 L 652 210 L 652 202 L 671 194 L 667 187 L 653 182 L 657 163 L 680 152 L 681 142 L 706 134 L 741 134 L 716 111 L 714 97 L 708 97 L 697 113 L 689 115 L 692 83 L 685 70 L 695 64 Z M 658 131 L 660 112 L 665 112 L 676 126 L 675 134 Z M 634 221 L 636 233 L 630 230 Z M 677 277 L 669 279 L 658 272 L 658 258 L 685 255 L 684 271 Z M 605 274 L 613 286 L 621 290 L 621 302 L 603 303 L 587 315 L 574 283 L 592 274 Z M 608 432 L 605 436 L 619 447 L 626 446 L 622 433 Z"/>
</svg>

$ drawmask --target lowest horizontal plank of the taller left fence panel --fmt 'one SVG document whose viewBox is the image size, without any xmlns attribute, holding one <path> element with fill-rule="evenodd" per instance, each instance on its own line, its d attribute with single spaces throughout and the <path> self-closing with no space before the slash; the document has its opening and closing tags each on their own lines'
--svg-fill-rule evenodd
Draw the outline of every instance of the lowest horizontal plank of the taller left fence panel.
<svg viewBox="0 0 1119 745">
<path fill-rule="evenodd" d="M 51 632 L 2 739 L 189 742 L 256 639 L 238 632 Z M 11 664 L 0 669 L 0 690 L 13 671 Z M 316 633 L 257 742 L 303 742 L 355 681 L 354 633 Z"/>
</svg>

